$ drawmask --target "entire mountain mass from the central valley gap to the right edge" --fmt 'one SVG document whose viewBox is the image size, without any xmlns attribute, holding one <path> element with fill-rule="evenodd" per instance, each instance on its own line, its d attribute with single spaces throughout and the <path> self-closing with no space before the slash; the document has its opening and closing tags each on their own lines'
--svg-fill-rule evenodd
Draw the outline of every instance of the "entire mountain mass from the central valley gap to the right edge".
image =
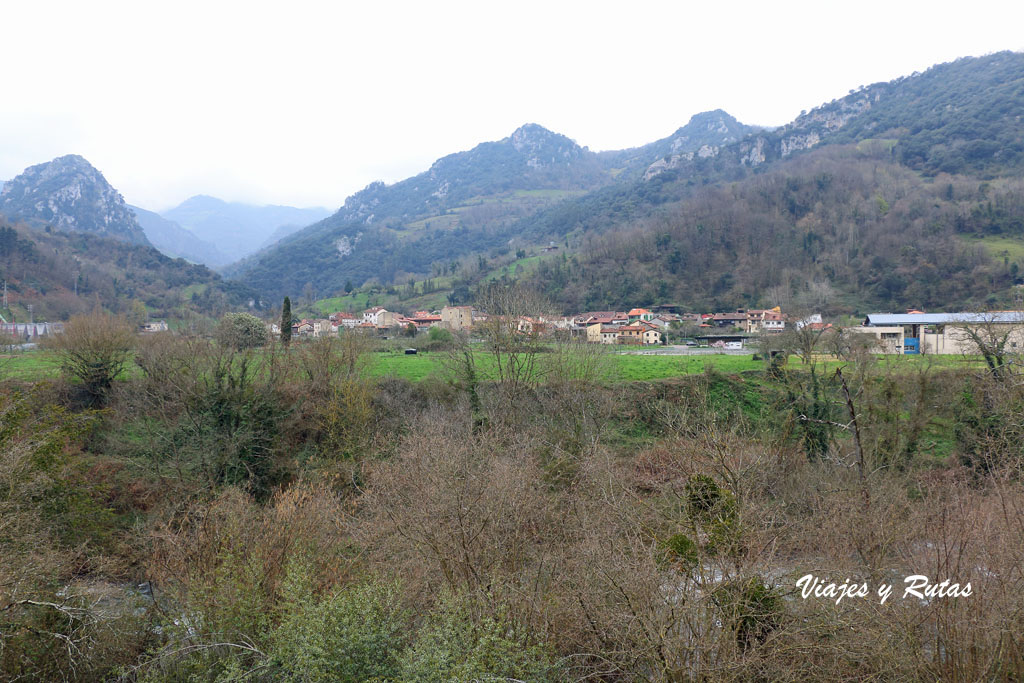
<svg viewBox="0 0 1024 683">
<path fill-rule="evenodd" d="M 767 292 L 810 290 L 847 310 L 985 305 L 1024 270 L 1021 112 L 1024 54 L 1000 52 L 854 88 L 771 130 L 716 111 L 595 154 L 524 126 L 375 183 L 227 272 L 274 297 L 348 282 L 412 291 L 416 275 L 445 273 L 467 300 L 493 266 L 529 261 L 534 284 L 566 309 L 771 304 Z M 552 247 L 557 257 L 545 256 Z"/>
</svg>

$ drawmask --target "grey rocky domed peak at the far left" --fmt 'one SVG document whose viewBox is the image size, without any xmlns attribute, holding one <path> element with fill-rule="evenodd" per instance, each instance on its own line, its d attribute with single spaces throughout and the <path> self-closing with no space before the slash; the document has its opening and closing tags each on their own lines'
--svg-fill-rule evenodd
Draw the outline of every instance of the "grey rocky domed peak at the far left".
<svg viewBox="0 0 1024 683">
<path fill-rule="evenodd" d="M 121 194 L 78 155 L 31 166 L 4 183 L 0 213 L 32 225 L 148 244 Z"/>
</svg>

